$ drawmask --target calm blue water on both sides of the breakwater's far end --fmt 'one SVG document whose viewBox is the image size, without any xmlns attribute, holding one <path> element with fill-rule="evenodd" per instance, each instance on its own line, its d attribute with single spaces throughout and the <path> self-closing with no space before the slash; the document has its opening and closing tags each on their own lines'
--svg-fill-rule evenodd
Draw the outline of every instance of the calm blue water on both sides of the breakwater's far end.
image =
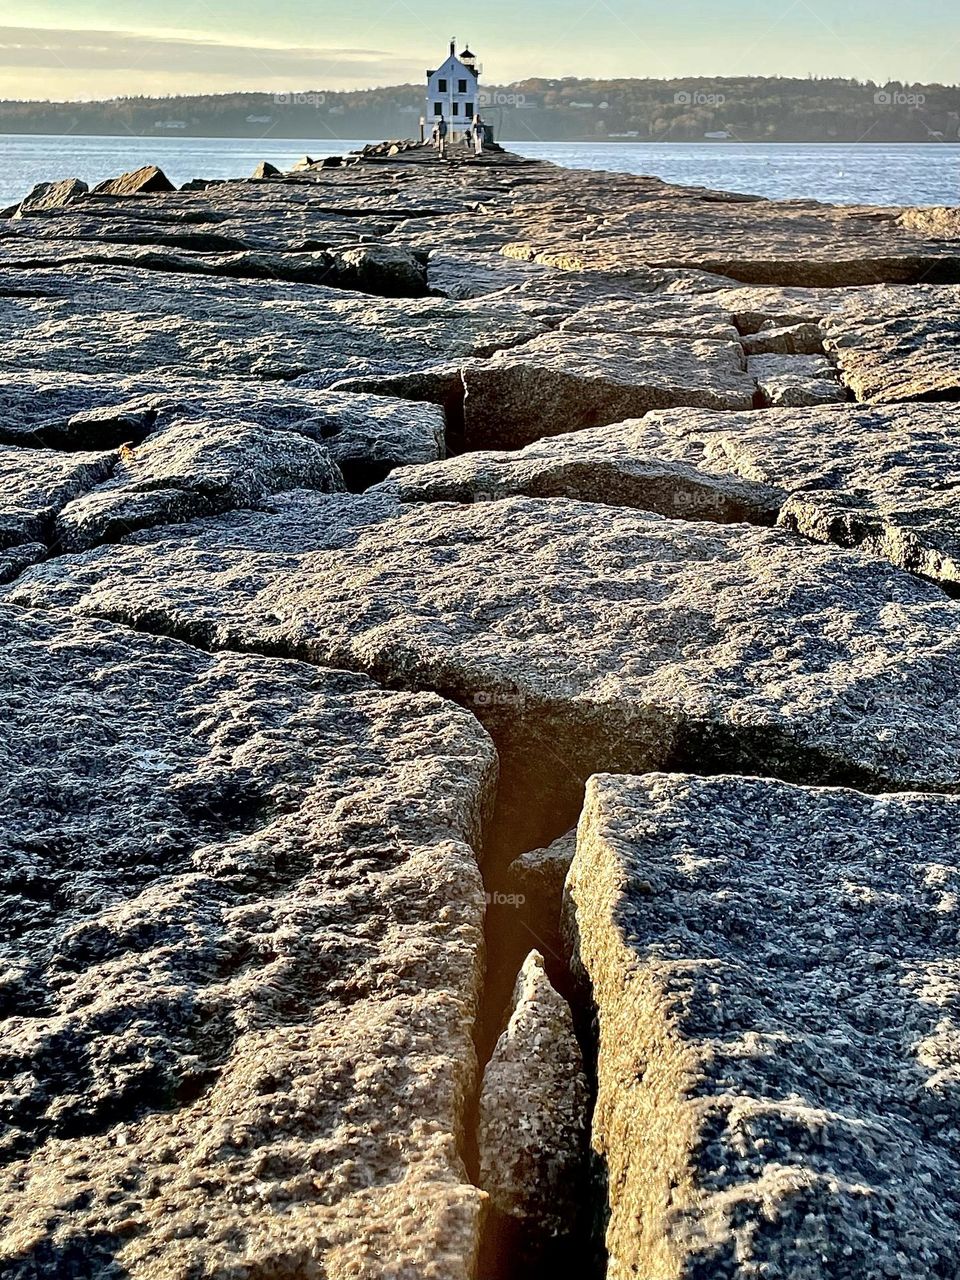
<svg viewBox="0 0 960 1280">
<path fill-rule="evenodd" d="M 0 134 L 0 205 L 37 182 L 79 177 L 88 183 L 142 164 L 172 182 L 242 178 L 259 160 L 288 168 L 303 152 L 319 157 L 362 146 L 302 138 L 87 138 Z M 960 145 L 797 146 L 780 143 L 515 142 L 524 155 L 577 169 L 649 173 L 668 182 L 746 191 L 774 198 L 836 204 L 960 205 Z"/>
</svg>

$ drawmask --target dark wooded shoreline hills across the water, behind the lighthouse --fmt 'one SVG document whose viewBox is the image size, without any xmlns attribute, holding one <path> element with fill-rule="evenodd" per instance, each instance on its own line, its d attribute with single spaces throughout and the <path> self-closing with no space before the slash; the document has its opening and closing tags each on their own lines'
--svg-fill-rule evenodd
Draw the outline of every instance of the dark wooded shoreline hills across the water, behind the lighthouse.
<svg viewBox="0 0 960 1280">
<path fill-rule="evenodd" d="M 960 87 L 852 79 L 544 79 L 485 86 L 504 140 L 957 142 Z M 207 137 L 413 137 L 424 87 L 330 92 L 3 101 L 1 133 Z"/>
</svg>

